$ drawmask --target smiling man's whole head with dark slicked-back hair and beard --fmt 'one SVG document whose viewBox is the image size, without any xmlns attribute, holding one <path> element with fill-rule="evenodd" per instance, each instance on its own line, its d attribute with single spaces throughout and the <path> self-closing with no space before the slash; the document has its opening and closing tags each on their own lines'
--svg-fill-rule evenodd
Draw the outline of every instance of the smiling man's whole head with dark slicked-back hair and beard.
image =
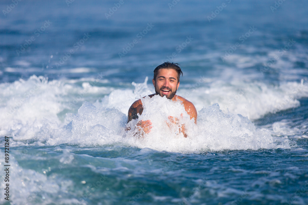
<svg viewBox="0 0 308 205">
<path fill-rule="evenodd" d="M 177 63 L 165 62 L 156 67 L 154 70 L 153 85 L 156 95 L 166 96 L 170 100 L 176 94 L 180 85 L 180 74 L 183 72 Z"/>
</svg>

